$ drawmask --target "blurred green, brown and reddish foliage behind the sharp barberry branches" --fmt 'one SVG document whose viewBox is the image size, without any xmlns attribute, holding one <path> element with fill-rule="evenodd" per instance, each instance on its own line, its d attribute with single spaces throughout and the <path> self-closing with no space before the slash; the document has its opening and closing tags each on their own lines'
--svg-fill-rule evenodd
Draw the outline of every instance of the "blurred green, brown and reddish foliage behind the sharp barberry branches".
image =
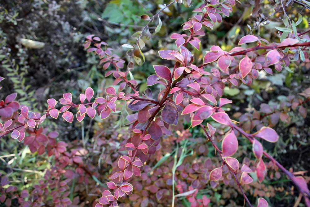
<svg viewBox="0 0 310 207">
<path fill-rule="evenodd" d="M 209 51 L 212 45 L 220 45 L 223 50 L 229 51 L 246 34 L 259 34 L 270 42 L 280 41 L 281 36 L 276 27 L 285 27 L 286 20 L 280 8 L 274 9 L 273 3 L 278 2 L 261 1 L 261 12 L 252 16 L 252 12 L 255 12 L 253 8 L 257 7 L 255 2 L 257 1 L 237 3 L 238 6 L 233 7 L 229 17 L 223 18 L 221 23 L 216 23 L 213 30 L 206 31 L 206 35 L 200 39 L 200 49 L 193 48 L 197 63 L 202 62 L 205 50 Z M 302 32 L 309 29 L 310 4 L 308 1 L 298 2 L 300 4 L 288 2 L 286 13 L 291 21 L 299 22 L 295 29 Z M 112 67 L 104 70 L 102 65 L 98 64 L 98 58 L 94 53 L 86 53 L 83 47 L 85 37 L 95 34 L 114 49 L 113 53 L 121 58 L 126 57 L 126 48 L 121 48 L 121 45 L 135 44 L 136 40 L 131 36 L 135 36 L 135 33 L 141 31 L 147 23 L 140 18 L 140 15 L 148 14 L 152 17 L 164 7 L 164 3 L 169 2 L 161 0 L 4 0 L 0 4 L 0 60 L 2 61 L 0 74 L 6 79 L 1 82 L 3 88 L 0 99 L 4 100 L 7 95 L 16 92 L 16 101 L 19 101 L 21 106 L 29 106 L 33 112 L 42 112 L 48 106 L 47 99 L 59 100 L 66 92 L 70 92 L 76 102 L 79 94 L 85 93 L 87 87 L 94 89 L 94 97 L 103 96 L 104 89 L 113 84 L 112 78 L 104 78 L 106 71 L 111 70 Z M 135 49 L 136 57 L 140 60 L 145 57 L 144 64 L 135 65 L 132 72 L 134 79 L 140 84 L 140 93 L 147 88 L 147 78 L 154 74 L 152 65 L 173 67 L 171 61 L 160 59 L 157 51 L 176 49 L 175 41 L 170 39 L 170 35 L 182 31 L 181 24 L 193 15 L 193 9 L 200 4 L 201 2 L 194 1 L 190 8 L 182 4 L 174 4 L 163 10 L 159 14 L 162 26 L 152 38 L 144 39 L 146 46 L 142 48 L 143 54 Z M 298 13 L 302 16 L 300 17 Z M 149 25 L 152 33 L 158 23 L 158 18 L 155 18 Z M 225 106 L 227 113 L 235 119 L 242 120 L 241 114 L 254 110 L 270 113 L 274 107 L 291 102 L 290 95 L 297 95 L 309 87 L 309 56 L 304 57 L 304 62 L 291 62 L 281 72 L 272 68 L 272 72 L 273 75 L 268 75 L 268 72 L 260 74 L 250 86 L 225 87 L 225 97 L 233 101 L 233 104 Z M 161 89 L 159 86 L 152 86 L 153 94 L 157 94 Z M 306 103 L 303 106 L 301 110 L 298 108 L 298 110 L 281 111 L 280 120 L 270 123 L 275 126 L 280 137 L 279 141 L 263 142 L 263 146 L 286 169 L 304 175 L 308 183 L 310 179 L 308 177 L 310 119 L 307 115 L 309 104 Z M 12 188 L 12 195 L 13 192 L 17 193 L 20 198 L 25 198 L 23 201 L 25 203 L 29 201 L 24 191 L 27 190 L 27 193 L 33 196 L 30 198 L 31 201 L 38 200 L 38 205 L 40 203 L 38 198 L 42 198 L 49 201 L 47 206 L 54 206 L 51 192 L 57 192 L 62 199 L 68 197 L 72 201 L 61 200 L 60 203 L 63 205 L 95 206 L 101 192 L 108 189 L 105 183 L 109 181 L 108 177 L 112 173 L 113 165 L 116 164 L 120 152 L 126 149 L 124 144 L 129 138 L 126 131 L 128 126 L 124 124 L 127 123 L 126 115 L 131 112 L 127 112 L 126 106 L 121 104 L 117 105 L 117 111 L 126 111 L 127 114 L 112 114 L 104 120 L 100 120 L 99 117 L 93 120 L 86 117 L 82 122 L 74 120 L 72 124 L 62 122 L 61 119 L 46 119 L 42 124 L 45 130 L 42 133 L 47 136 L 48 145 L 54 142 L 51 140 L 57 140 L 57 143 L 60 143 L 53 147 L 55 151 L 52 156 L 48 154 L 50 149 L 47 145 L 44 152 L 40 153 L 31 149 L 31 143 L 17 143 L 9 136 L 2 137 L 0 174 L 2 174 L 3 189 L 0 187 L 0 195 L 8 185 L 11 185 L 16 187 L 16 189 Z M 249 124 L 250 119 L 252 117 L 243 115 L 244 122 L 241 124 Z M 5 119 L 1 120 L 1 123 L 5 121 Z M 219 127 L 212 120 L 208 122 Z M 174 134 L 163 139 L 162 147 L 147 161 L 141 179 L 135 183 L 135 188 L 138 190 L 130 197 L 118 201 L 119 205 L 166 206 L 167 203 L 170 204 L 172 174 L 175 174 L 178 179 L 176 194 L 193 190 L 188 186 L 195 186 L 195 183 L 193 184 L 195 180 L 204 182 L 203 178 L 200 179 L 199 171 L 205 168 L 214 169 L 219 165 L 219 160 L 212 145 L 206 142 L 203 129 L 189 127 L 188 122 L 179 124 Z M 66 144 L 62 145 L 61 141 Z M 60 173 L 58 175 L 52 170 L 57 152 L 63 152 L 60 146 L 66 148 L 69 153 L 66 156 L 71 161 L 63 167 L 63 172 L 57 172 Z M 182 157 L 184 160 L 181 162 L 183 164 L 174 168 L 174 152 L 177 149 L 184 149 L 184 157 Z M 250 160 L 254 158 L 251 149 L 252 145 L 249 142 L 239 141 L 239 150 L 235 157 L 240 164 L 251 162 L 253 164 L 254 161 Z M 181 158 L 178 157 L 178 159 Z M 293 206 L 298 200 L 296 196 L 298 191 L 285 175 L 273 168 L 272 163 L 267 163 L 267 168 L 268 175 L 262 183 L 257 182 L 254 173 L 250 174 L 254 182 L 244 187 L 251 203 L 255 203 L 258 197 L 263 197 L 272 206 Z M 199 202 L 203 202 L 209 198 L 210 206 L 243 206 L 243 198 L 238 196 L 240 193 L 238 186 L 233 179 L 231 180 L 229 173 L 226 178 L 227 181 L 221 180 L 215 187 L 199 189 L 197 195 L 180 195 L 177 204 L 190 206 L 194 202 L 193 199 L 201 199 Z M 4 182 L 6 179 L 8 181 Z M 45 186 L 49 181 L 57 182 L 57 179 L 59 185 L 64 188 L 63 191 L 58 191 L 55 186 Z M 63 183 L 60 184 L 60 182 Z M 196 185 L 199 186 L 197 183 Z M 38 189 L 42 192 L 48 191 L 51 195 L 45 197 Z M 7 200 L 2 202 L 0 199 L 0 201 L 0 206 L 9 205 Z M 20 205 L 17 199 L 10 202 L 12 206 Z M 297 205 L 304 206 L 302 203 Z"/>
</svg>

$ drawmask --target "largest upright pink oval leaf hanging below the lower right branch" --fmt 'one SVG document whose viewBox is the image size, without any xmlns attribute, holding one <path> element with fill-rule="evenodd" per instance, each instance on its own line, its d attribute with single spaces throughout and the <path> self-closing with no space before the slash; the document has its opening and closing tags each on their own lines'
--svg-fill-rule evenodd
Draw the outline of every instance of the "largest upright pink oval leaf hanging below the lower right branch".
<svg viewBox="0 0 310 207">
<path fill-rule="evenodd" d="M 226 134 L 222 141 L 223 158 L 230 157 L 238 150 L 238 140 L 233 130 Z"/>
</svg>

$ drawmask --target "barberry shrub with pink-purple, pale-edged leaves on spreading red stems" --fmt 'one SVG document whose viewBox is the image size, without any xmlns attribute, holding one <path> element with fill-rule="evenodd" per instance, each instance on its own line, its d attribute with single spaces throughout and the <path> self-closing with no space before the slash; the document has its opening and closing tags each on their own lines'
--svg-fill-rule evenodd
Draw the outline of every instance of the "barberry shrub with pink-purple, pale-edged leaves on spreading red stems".
<svg viewBox="0 0 310 207">
<path fill-rule="evenodd" d="M 181 0 L 176 2 L 182 3 Z M 132 111 L 126 116 L 125 123 L 129 126 L 129 136 L 123 137 L 124 142 L 121 143 L 119 153 L 116 153 L 120 156 L 114 162 L 108 161 L 115 166 L 111 170 L 110 181 L 106 182 L 106 185 L 101 183 L 104 191 L 101 192 L 96 207 L 118 206 L 117 201 L 127 196 L 134 206 L 174 206 L 176 200 L 184 196 L 191 206 L 208 206 L 210 198 L 206 195 L 199 196 L 199 190 L 203 191 L 208 185 L 215 188 L 220 183 L 236 183 L 244 202 L 252 206 L 244 188 L 254 181 L 251 173 L 255 172 L 257 181 L 261 183 L 268 174 L 268 169 L 277 173 L 281 170 L 299 190 L 298 202 L 303 197 L 305 205 L 310 206 L 307 181 L 284 168 L 264 150 L 261 143 L 262 140 L 278 141 L 278 133 L 272 127 L 279 119 L 289 121 L 287 112 L 290 109 L 298 108 L 299 113 L 306 117 L 305 104 L 310 100 L 310 88 L 298 96 L 287 97 L 288 101 L 282 102 L 279 108 L 262 104 L 259 111 L 254 110 L 253 113 L 234 117 L 225 112 L 225 105 L 232 101 L 223 97 L 225 86 L 250 86 L 261 72 L 272 75 L 272 71 L 280 72 L 283 67 L 288 67 L 291 61 L 308 59 L 308 31 L 298 33 L 296 25 L 300 21 L 295 23 L 290 20 L 290 24 L 287 23 L 285 28 L 277 28 L 281 35 L 280 43 L 269 43 L 258 35 L 248 34 L 240 38 L 238 46 L 230 51 L 225 51 L 218 45 L 210 47 L 202 63 L 198 63 L 192 52 L 200 49 L 200 38 L 205 35 L 204 29 L 212 29 L 216 22 L 229 16 L 232 8 L 236 6 L 235 0 L 206 1 L 193 10 L 193 17 L 184 22 L 182 34 L 171 34 L 170 38 L 175 40 L 177 49 L 158 51 L 160 58 L 171 61 L 174 65 L 173 69 L 166 65 L 153 65 L 156 74 L 148 77 L 147 85 L 160 85 L 160 92 L 155 95 L 147 88 L 140 95 L 139 84 L 133 78 L 132 71 L 135 63 L 139 65 L 142 60 L 145 61 L 142 49 L 145 47 L 143 38 L 151 37 L 148 25 L 161 11 L 176 2 L 171 2 L 153 17 L 141 16 L 148 23 L 142 31 L 133 35 L 136 43 L 122 45 L 128 49 L 126 70 L 122 71 L 126 61 L 113 54 L 113 49 L 108 47 L 107 43 L 95 35 L 86 37 L 85 49 L 99 56 L 104 70 L 111 69 L 105 73 L 105 77 L 113 75 L 113 84 L 117 85 L 117 90 L 108 87 L 105 88 L 105 96 L 94 97 L 94 90 L 89 87 L 79 95 L 79 100 L 74 102 L 71 93 L 64 93 L 59 100 L 62 107 L 56 107 L 58 101 L 55 99 L 48 99 L 48 107 L 43 115 L 31 112 L 29 107 L 15 101 L 16 93 L 0 102 L 0 116 L 3 120 L 3 124 L 0 123 L 0 138 L 9 134 L 19 142 L 24 140 L 32 153 L 38 152 L 42 155 L 47 152 L 48 156 L 55 159 L 55 165 L 45 173 L 30 193 L 27 190 L 20 194 L 14 193 L 17 191 L 16 187 L 9 185 L 6 176 L 0 175 L 0 202 L 5 202 L 7 206 L 11 205 L 13 199 L 17 199 L 21 206 L 69 206 L 76 202 L 72 200 L 68 186 L 68 183 L 75 179 L 74 175 L 79 175 L 80 183 L 87 184 L 90 178 L 100 182 L 96 178 L 99 174 L 94 172 L 93 166 L 84 163 L 83 155 L 86 151 L 81 152 L 70 146 L 70 143 L 57 141 L 57 132 L 48 133 L 47 129 L 39 125 L 49 116 L 53 119 L 61 117 L 69 123 L 72 123 L 74 118 L 82 122 L 86 116 L 91 119 L 96 115 L 100 119 L 107 119 L 117 113 L 123 116 L 122 113 L 127 111 L 117 109 L 119 105 L 126 105 Z M 258 2 L 255 1 L 256 6 L 259 5 Z M 188 0 L 183 3 L 187 7 L 191 5 Z M 283 3 L 280 4 L 284 9 Z M 255 12 L 257 9 L 259 10 L 255 7 Z M 286 15 L 285 11 L 284 14 Z M 162 24 L 159 18 L 158 22 L 155 34 Z M 250 44 L 256 45 L 249 47 Z M 139 55 L 135 51 L 138 51 Z M 3 79 L 0 77 L 0 81 Z M 76 109 L 74 114 L 73 109 Z M 233 119 L 238 119 L 239 122 Z M 203 155 L 201 159 L 195 163 L 184 164 L 184 160 L 194 154 L 188 147 L 193 144 L 190 133 L 179 130 L 183 128 L 184 122 L 188 121 L 192 128 L 200 127 L 205 138 L 197 141 L 199 146 L 194 148 L 197 154 Z M 210 123 L 216 124 L 212 126 Z M 176 137 L 173 136 L 175 131 L 178 135 Z M 238 152 L 238 137 L 245 137 L 252 144 L 255 160 L 244 159 L 240 164 L 233 157 Z M 209 142 L 219 161 L 204 159 Z M 126 153 L 122 150 L 126 150 Z M 268 164 L 267 160 L 270 160 Z M 155 165 L 147 164 L 156 162 Z M 70 169 L 73 165 L 75 172 Z M 51 198 L 47 197 L 48 193 Z M 268 202 L 259 198 L 256 206 L 266 207 Z"/>
</svg>

